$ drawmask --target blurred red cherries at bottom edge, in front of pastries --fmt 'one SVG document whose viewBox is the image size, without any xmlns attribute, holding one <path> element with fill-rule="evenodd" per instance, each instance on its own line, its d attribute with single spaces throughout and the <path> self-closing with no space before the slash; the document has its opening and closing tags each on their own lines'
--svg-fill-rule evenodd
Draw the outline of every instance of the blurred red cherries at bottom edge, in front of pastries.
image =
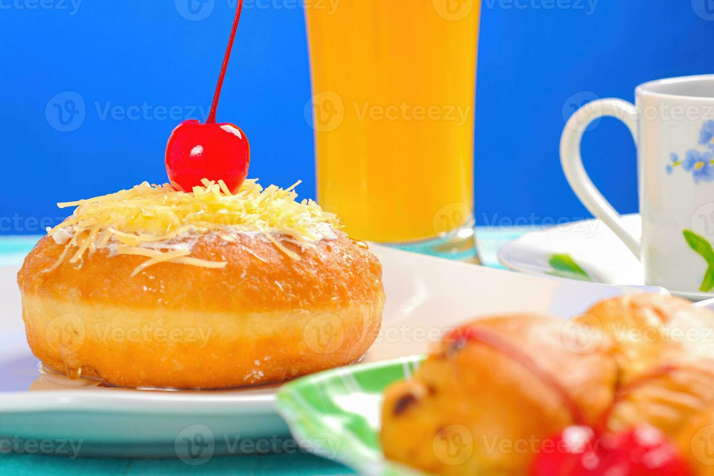
<svg viewBox="0 0 714 476">
<path fill-rule="evenodd" d="M 568 427 L 541 447 L 531 476 L 690 476 L 674 445 L 654 427 L 598 436 Z"/>
</svg>

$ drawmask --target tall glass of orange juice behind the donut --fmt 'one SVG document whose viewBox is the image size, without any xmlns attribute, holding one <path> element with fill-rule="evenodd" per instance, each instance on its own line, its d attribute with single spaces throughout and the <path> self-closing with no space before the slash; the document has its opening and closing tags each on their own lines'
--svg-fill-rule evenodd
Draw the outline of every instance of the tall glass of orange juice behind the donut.
<svg viewBox="0 0 714 476">
<path fill-rule="evenodd" d="M 478 0 L 306 4 L 317 198 L 362 240 L 478 260 Z"/>
</svg>

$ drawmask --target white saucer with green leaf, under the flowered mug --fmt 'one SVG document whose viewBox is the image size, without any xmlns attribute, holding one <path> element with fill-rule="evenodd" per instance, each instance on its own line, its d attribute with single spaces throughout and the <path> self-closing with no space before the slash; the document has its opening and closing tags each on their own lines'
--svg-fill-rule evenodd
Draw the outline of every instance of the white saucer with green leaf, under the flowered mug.
<svg viewBox="0 0 714 476">
<path fill-rule="evenodd" d="M 641 233 L 641 223 L 639 214 L 623 216 L 623 226 L 635 236 Z M 576 221 L 526 233 L 498 250 L 498 260 L 506 268 L 533 274 L 558 273 L 550 265 L 553 255 L 569 255 L 595 283 L 644 285 L 642 263 L 599 220 Z M 693 301 L 714 298 L 712 293 L 677 290 L 670 293 Z"/>
</svg>

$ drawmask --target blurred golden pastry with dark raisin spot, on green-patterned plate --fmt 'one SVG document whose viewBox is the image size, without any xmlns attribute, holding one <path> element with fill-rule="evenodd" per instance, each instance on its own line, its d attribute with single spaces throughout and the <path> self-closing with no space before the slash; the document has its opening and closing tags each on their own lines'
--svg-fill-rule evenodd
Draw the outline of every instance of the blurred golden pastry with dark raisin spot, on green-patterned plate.
<svg viewBox="0 0 714 476">
<path fill-rule="evenodd" d="M 440 475 L 525 474 L 532 444 L 594 424 L 612 401 L 617 371 L 608 349 L 575 354 L 577 338 L 543 315 L 457 329 L 411 380 L 387 388 L 384 454 Z"/>
</svg>

